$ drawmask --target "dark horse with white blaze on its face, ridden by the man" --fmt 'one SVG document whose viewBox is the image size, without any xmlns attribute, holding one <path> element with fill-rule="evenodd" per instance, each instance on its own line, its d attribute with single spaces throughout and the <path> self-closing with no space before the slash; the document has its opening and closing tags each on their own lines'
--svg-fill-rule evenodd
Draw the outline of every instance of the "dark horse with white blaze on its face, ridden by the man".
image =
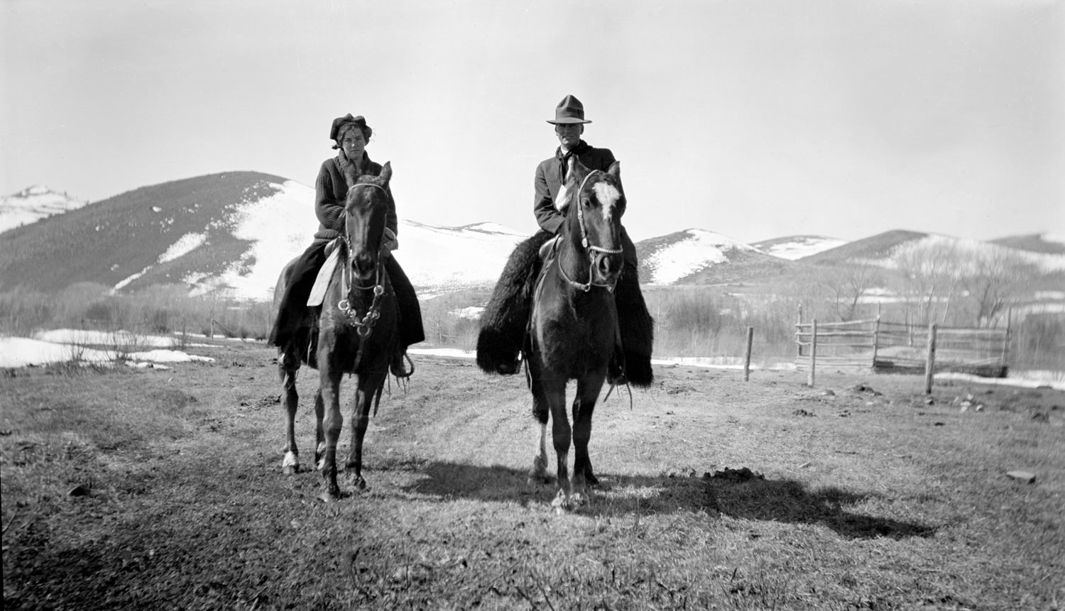
<svg viewBox="0 0 1065 611">
<path fill-rule="evenodd" d="M 526 350 L 532 415 L 540 424 L 530 480 L 546 481 L 547 415 L 558 459 L 559 509 L 587 502 L 586 486 L 597 484 L 588 457 L 592 412 L 619 342 L 613 288 L 622 269 L 621 216 L 625 195 L 617 162 L 603 172 L 570 161 L 569 210 L 554 252 L 537 280 Z M 566 413 L 566 386 L 577 381 L 573 428 Z M 568 475 L 573 442 L 573 478 Z"/>
</svg>

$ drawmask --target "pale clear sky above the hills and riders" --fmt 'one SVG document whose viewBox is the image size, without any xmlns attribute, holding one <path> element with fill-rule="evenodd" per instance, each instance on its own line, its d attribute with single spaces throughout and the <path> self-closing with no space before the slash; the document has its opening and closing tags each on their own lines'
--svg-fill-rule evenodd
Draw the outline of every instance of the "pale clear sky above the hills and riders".
<svg viewBox="0 0 1065 611">
<path fill-rule="evenodd" d="M 313 185 L 350 112 L 402 217 L 531 232 L 573 94 L 637 241 L 1065 234 L 1060 1 L 0 0 L 0 195 Z"/>
</svg>

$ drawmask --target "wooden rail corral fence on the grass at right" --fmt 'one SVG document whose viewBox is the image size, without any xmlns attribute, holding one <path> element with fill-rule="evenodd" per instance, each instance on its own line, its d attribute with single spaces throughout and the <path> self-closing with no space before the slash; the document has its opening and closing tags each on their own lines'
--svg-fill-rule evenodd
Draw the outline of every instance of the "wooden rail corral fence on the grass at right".
<svg viewBox="0 0 1065 611">
<path fill-rule="evenodd" d="M 868 368 L 875 373 L 923 373 L 934 358 L 934 371 L 961 371 L 1004 378 L 1009 369 L 1010 317 L 1006 327 L 918 327 L 905 323 L 867 320 L 809 323 L 800 310 L 796 324 L 796 367 Z"/>
</svg>

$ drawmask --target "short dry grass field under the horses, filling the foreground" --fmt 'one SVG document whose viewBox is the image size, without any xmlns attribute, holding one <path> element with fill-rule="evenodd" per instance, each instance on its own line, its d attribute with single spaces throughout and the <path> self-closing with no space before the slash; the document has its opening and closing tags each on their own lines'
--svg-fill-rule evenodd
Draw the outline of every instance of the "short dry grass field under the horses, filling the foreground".
<svg viewBox="0 0 1065 611">
<path fill-rule="evenodd" d="M 662 367 L 596 410 L 607 488 L 557 515 L 520 376 L 419 358 L 325 505 L 281 474 L 273 351 L 199 352 L 2 373 L 4 609 L 1065 608 L 1062 392 Z"/>
</svg>

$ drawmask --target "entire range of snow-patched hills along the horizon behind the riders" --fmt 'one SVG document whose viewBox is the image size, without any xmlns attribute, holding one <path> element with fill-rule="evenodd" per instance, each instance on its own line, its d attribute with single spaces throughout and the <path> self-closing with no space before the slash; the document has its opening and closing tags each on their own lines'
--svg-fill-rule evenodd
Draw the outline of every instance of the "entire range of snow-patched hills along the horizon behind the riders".
<svg viewBox="0 0 1065 611">
<path fill-rule="evenodd" d="M 7 210 L 3 204 L 13 197 L 0 198 L 0 221 Z M 281 266 L 302 252 L 317 229 L 313 197 L 313 188 L 283 177 L 228 171 L 143 186 L 93 203 L 68 198 L 75 202 L 69 209 L 61 203 L 60 212 L 0 232 L 0 291 L 22 286 L 49 293 L 92 281 L 115 292 L 183 284 L 193 293 L 266 299 Z M 493 222 L 440 227 L 400 220 L 398 237 L 397 260 L 420 293 L 435 294 L 490 287 L 527 234 Z M 781 277 L 810 265 L 885 264 L 900 248 L 929 240 L 1032 252 L 1033 261 L 1053 266 L 1060 260 L 1065 269 L 1065 240 L 1055 242 L 1049 234 L 977 243 L 890 230 L 854 242 L 792 235 L 751 245 L 689 228 L 636 247 L 643 283 L 723 284 Z"/>
</svg>

